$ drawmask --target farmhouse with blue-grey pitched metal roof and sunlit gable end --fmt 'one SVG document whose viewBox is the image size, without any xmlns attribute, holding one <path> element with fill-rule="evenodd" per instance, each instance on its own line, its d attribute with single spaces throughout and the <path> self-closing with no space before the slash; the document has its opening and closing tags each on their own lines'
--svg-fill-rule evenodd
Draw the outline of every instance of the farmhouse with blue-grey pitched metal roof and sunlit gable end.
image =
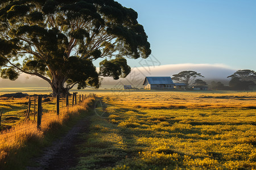
<svg viewBox="0 0 256 170">
<path fill-rule="evenodd" d="M 148 90 L 164 90 L 173 89 L 175 84 L 170 76 L 146 76 L 143 86 Z"/>
</svg>

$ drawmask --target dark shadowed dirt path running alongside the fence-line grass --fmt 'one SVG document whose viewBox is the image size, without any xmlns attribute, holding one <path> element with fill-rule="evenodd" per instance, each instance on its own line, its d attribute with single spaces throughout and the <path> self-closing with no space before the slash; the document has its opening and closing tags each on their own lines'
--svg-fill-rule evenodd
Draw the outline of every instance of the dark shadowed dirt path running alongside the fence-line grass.
<svg viewBox="0 0 256 170">
<path fill-rule="evenodd" d="M 39 164 L 38 167 L 27 167 L 27 169 L 69 169 L 75 167 L 79 158 L 76 145 L 85 142 L 79 136 L 88 131 L 89 125 L 89 118 L 82 118 L 64 137 L 53 142 L 52 146 L 44 148 L 44 154 L 40 158 L 33 160 Z"/>
</svg>

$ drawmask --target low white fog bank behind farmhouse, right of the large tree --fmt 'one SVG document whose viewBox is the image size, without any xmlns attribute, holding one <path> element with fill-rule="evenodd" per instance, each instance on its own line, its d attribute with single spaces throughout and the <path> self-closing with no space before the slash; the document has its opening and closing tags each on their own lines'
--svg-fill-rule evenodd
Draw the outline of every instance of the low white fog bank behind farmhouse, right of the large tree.
<svg viewBox="0 0 256 170">
<path fill-rule="evenodd" d="M 181 71 L 196 71 L 204 76 L 205 82 L 210 83 L 212 80 L 221 81 L 228 84 L 227 76 L 236 72 L 229 66 L 222 64 L 193 64 L 183 63 L 176 65 L 162 65 L 150 67 L 134 67 L 131 73 L 126 78 L 113 80 L 113 78 L 104 78 L 102 87 L 104 88 L 122 88 L 123 85 L 132 85 L 133 87 L 141 88 L 145 76 L 171 76 Z"/>
</svg>

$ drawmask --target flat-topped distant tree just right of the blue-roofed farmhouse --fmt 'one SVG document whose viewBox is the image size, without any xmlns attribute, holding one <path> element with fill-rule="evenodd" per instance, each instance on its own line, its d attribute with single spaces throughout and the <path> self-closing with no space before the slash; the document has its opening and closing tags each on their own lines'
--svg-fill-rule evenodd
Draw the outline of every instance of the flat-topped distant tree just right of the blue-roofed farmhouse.
<svg viewBox="0 0 256 170">
<path fill-rule="evenodd" d="M 196 71 L 181 71 L 180 73 L 172 76 L 172 79 L 176 80 L 176 82 L 185 83 L 186 88 L 193 86 L 197 77 L 204 77 L 201 73 L 197 73 Z"/>
</svg>

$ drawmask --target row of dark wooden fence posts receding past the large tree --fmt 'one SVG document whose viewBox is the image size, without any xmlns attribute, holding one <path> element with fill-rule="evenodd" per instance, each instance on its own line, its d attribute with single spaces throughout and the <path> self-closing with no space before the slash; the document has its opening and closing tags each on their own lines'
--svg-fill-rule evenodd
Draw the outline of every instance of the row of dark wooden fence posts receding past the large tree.
<svg viewBox="0 0 256 170">
<path fill-rule="evenodd" d="M 28 96 L 28 108 L 26 111 L 26 116 L 24 120 L 30 120 L 31 112 L 34 114 L 34 121 L 36 120 L 36 125 L 38 130 L 40 130 L 41 122 L 42 122 L 42 113 L 43 113 L 43 104 L 47 103 L 48 101 L 51 101 L 50 97 L 52 97 L 52 101 L 56 99 L 56 115 L 60 114 L 60 102 L 62 103 L 61 107 L 74 107 L 77 105 L 77 103 L 84 103 L 84 100 L 91 97 L 96 97 L 96 94 L 90 93 L 88 95 L 82 94 L 77 95 L 77 92 L 73 92 L 72 95 L 66 95 L 65 97 L 63 95 L 55 95 L 55 96 L 48 96 L 43 99 L 44 95 L 37 95 L 37 96 Z M 71 100 L 70 100 L 71 99 Z M 72 101 L 70 103 L 69 101 Z M 78 102 L 77 102 L 78 101 Z M 63 105 L 63 103 L 65 103 Z M 31 107 L 33 106 L 33 110 L 31 110 Z M 36 109 L 37 108 L 37 109 Z M 55 109 L 55 108 L 54 108 Z M 2 120 L 2 111 L 0 111 L 0 126 L 1 126 L 1 120 Z"/>
</svg>

